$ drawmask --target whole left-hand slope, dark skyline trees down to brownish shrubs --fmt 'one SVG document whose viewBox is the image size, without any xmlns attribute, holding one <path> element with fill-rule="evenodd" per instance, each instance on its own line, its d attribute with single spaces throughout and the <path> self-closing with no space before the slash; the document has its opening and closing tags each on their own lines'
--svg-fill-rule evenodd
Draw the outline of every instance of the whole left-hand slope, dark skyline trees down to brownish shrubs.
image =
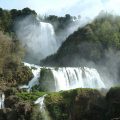
<svg viewBox="0 0 120 120">
<path fill-rule="evenodd" d="M 37 14 L 29 8 L 10 11 L 0 8 L 0 83 L 17 85 L 32 78 L 32 71 L 21 64 L 25 50 L 14 32 L 15 22 L 28 15 Z"/>
</svg>

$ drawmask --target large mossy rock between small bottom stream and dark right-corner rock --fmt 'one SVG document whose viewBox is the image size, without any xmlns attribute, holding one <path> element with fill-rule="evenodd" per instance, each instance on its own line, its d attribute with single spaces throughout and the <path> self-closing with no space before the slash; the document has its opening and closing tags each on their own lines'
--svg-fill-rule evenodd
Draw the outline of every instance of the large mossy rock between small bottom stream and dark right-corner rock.
<svg viewBox="0 0 120 120">
<path fill-rule="evenodd" d="M 104 120 L 103 96 L 94 89 L 51 93 L 45 103 L 53 120 Z"/>
</svg>

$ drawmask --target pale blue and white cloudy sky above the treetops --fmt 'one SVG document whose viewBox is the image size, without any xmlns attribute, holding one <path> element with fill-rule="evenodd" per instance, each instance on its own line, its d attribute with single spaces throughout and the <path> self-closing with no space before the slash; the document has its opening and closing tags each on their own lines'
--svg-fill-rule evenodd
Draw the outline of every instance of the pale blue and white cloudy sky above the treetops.
<svg viewBox="0 0 120 120">
<path fill-rule="evenodd" d="M 120 0 L 0 0 L 4 9 L 29 7 L 38 14 L 81 15 L 94 17 L 101 10 L 120 14 Z"/>
</svg>

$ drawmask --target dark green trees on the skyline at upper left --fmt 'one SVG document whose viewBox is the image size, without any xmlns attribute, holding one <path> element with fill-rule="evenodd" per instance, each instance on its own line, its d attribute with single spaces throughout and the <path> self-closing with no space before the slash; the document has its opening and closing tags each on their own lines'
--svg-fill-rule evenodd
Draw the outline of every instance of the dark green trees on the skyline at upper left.
<svg viewBox="0 0 120 120">
<path fill-rule="evenodd" d="M 22 19 L 28 15 L 36 16 L 36 12 L 29 8 L 22 10 L 12 9 L 10 11 L 0 8 L 0 30 L 4 32 L 14 32 L 14 24 L 17 19 Z"/>
</svg>

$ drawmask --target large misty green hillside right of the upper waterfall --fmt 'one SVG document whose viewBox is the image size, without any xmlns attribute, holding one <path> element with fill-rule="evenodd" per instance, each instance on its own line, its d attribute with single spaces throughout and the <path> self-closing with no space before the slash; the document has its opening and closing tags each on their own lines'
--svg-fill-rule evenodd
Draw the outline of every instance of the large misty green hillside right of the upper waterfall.
<svg viewBox="0 0 120 120">
<path fill-rule="evenodd" d="M 102 13 L 92 23 L 71 34 L 57 53 L 41 61 L 41 64 L 81 66 L 83 59 L 98 63 L 109 49 L 120 49 L 120 16 Z"/>
</svg>

